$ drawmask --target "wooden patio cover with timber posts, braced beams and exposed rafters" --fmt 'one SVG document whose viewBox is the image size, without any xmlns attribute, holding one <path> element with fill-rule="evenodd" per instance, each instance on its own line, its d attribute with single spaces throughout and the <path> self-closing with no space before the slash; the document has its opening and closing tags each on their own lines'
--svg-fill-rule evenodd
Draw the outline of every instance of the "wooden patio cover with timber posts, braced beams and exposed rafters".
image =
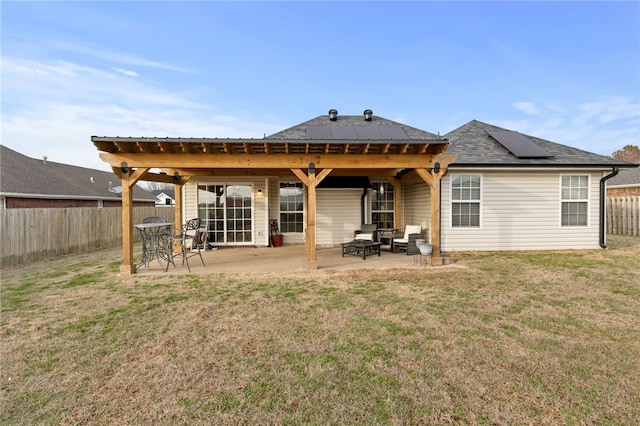
<svg viewBox="0 0 640 426">
<path fill-rule="evenodd" d="M 402 183 L 424 181 L 431 194 L 432 261 L 440 253 L 440 180 L 455 155 L 444 154 L 444 139 L 309 140 L 131 138 L 93 136 L 100 158 L 122 179 L 123 274 L 135 273 L 133 263 L 132 189 L 142 181 L 175 185 L 174 224 L 182 218 L 183 186 L 196 176 L 297 177 L 307 188 L 308 262 L 317 268 L 316 187 L 327 176 L 380 176 L 395 188 L 395 220 L 400 227 Z M 155 171 L 159 170 L 159 171 Z"/>
</svg>

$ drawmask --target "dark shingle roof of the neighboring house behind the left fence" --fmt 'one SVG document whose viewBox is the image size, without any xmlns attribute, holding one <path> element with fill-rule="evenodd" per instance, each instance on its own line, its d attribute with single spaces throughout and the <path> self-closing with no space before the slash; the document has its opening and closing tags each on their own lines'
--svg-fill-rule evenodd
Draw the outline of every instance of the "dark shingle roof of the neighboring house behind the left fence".
<svg viewBox="0 0 640 426">
<path fill-rule="evenodd" d="M 38 160 L 3 145 L 0 148 L 0 194 L 4 197 L 121 199 L 117 194 L 120 179 L 111 172 Z M 152 194 L 138 186 L 133 188 L 133 199 L 155 202 Z"/>
</svg>

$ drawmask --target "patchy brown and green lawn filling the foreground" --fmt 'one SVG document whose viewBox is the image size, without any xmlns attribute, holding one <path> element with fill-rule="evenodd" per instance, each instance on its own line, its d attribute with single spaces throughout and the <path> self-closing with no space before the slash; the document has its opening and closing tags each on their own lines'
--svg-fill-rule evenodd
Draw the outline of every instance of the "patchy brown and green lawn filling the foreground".
<svg viewBox="0 0 640 426">
<path fill-rule="evenodd" d="M 3 271 L 3 424 L 638 424 L 640 241 L 465 268 Z M 102 253 L 104 254 L 104 253 Z"/>
</svg>

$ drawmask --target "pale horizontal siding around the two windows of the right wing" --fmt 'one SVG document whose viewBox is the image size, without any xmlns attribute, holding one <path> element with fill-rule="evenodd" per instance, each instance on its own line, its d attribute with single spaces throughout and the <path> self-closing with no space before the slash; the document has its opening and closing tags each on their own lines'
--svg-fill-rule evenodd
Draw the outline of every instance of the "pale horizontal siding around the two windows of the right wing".
<svg viewBox="0 0 640 426">
<path fill-rule="evenodd" d="M 451 226 L 451 179 L 481 175 L 480 227 Z M 562 175 L 589 176 L 586 227 L 561 226 Z M 442 180 L 442 250 L 539 250 L 599 247 L 597 172 L 471 172 L 450 170 Z"/>
</svg>

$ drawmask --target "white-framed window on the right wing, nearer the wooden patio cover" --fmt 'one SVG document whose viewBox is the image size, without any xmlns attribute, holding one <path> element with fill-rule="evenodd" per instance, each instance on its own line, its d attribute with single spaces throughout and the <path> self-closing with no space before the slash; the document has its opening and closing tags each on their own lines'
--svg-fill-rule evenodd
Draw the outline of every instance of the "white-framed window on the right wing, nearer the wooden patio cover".
<svg viewBox="0 0 640 426">
<path fill-rule="evenodd" d="M 480 175 L 458 175 L 452 178 L 451 226 L 480 227 Z"/>
</svg>

